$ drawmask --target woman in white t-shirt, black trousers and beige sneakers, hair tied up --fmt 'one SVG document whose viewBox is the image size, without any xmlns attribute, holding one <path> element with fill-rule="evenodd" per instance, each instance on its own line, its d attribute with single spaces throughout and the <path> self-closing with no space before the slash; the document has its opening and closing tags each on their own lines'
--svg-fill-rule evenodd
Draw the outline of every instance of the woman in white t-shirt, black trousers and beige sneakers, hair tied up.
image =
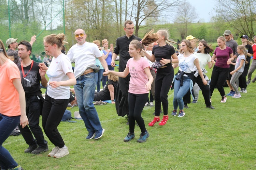
<svg viewBox="0 0 256 170">
<path fill-rule="evenodd" d="M 60 158 L 69 154 L 57 127 L 68 106 L 70 98 L 70 86 L 76 84 L 69 58 L 60 50 L 64 43 L 67 43 L 64 34 L 51 34 L 44 37 L 44 49 L 48 55 L 54 58 L 49 67 L 40 63 L 40 69 L 47 70 L 49 77 L 47 94 L 45 95 L 42 125 L 46 136 L 55 145 L 48 156 Z"/>
</svg>

